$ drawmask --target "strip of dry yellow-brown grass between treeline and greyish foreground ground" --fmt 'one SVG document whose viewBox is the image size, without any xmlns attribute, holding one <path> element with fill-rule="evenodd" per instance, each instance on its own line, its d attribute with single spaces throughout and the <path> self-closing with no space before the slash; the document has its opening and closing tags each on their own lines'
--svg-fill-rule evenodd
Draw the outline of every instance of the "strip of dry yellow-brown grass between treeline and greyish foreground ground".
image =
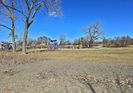
<svg viewBox="0 0 133 93">
<path fill-rule="evenodd" d="M 44 52 L 30 51 L 27 55 L 23 55 L 20 52 L 0 52 L 1 63 L 29 63 L 42 60 L 133 62 L 133 48 L 57 50 Z"/>
</svg>

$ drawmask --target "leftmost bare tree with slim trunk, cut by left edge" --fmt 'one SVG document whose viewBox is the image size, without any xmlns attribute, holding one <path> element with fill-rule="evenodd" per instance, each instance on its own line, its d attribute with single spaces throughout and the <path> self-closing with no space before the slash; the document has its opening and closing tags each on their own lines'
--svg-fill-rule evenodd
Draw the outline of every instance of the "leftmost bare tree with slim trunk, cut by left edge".
<svg viewBox="0 0 133 93">
<path fill-rule="evenodd" d="M 12 7 L 12 8 L 10 8 Z M 11 27 L 0 23 L 0 26 L 11 31 L 10 35 L 12 37 L 12 46 L 13 52 L 16 51 L 16 43 L 15 43 L 15 13 L 14 13 L 14 0 L 0 0 L 0 14 L 4 17 L 6 16 L 11 21 Z"/>
</svg>

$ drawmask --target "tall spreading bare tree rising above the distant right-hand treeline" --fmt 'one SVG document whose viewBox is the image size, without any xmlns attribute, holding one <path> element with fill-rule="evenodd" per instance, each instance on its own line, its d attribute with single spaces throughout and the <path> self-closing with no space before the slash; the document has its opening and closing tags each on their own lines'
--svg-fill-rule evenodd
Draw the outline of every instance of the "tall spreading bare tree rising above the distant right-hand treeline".
<svg viewBox="0 0 133 93">
<path fill-rule="evenodd" d="M 99 22 L 92 24 L 90 27 L 83 30 L 86 33 L 87 41 L 89 47 L 93 47 L 96 40 L 103 37 L 103 32 L 101 30 Z"/>
</svg>

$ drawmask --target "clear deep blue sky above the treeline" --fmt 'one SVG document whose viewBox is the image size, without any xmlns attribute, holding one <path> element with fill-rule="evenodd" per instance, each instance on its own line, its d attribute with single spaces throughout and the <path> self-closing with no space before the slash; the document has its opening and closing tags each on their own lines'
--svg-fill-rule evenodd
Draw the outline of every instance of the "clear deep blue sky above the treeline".
<svg viewBox="0 0 133 93">
<path fill-rule="evenodd" d="M 63 17 L 53 18 L 38 13 L 29 30 L 30 38 L 46 35 L 59 39 L 65 35 L 73 40 L 84 36 L 82 29 L 100 21 L 107 38 L 129 35 L 133 37 L 133 0 L 62 0 Z M 17 34 L 23 37 L 23 26 L 17 24 Z M 2 29 L 0 40 L 10 40 Z"/>
</svg>

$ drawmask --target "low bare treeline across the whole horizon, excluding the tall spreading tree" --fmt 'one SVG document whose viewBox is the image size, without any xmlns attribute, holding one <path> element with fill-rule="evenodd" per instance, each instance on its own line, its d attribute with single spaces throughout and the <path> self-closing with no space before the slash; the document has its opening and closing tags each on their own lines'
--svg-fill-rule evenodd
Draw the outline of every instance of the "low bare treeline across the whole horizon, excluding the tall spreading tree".
<svg viewBox="0 0 133 93">
<path fill-rule="evenodd" d="M 27 48 L 48 48 L 51 40 L 52 39 L 47 36 L 40 36 L 37 39 L 29 38 L 27 42 Z M 21 49 L 22 43 L 22 40 L 17 41 L 17 46 L 19 49 Z M 58 48 L 90 48 L 89 45 L 88 38 L 86 37 L 81 37 L 79 39 L 75 39 L 74 41 L 70 41 L 67 40 L 65 36 L 60 36 L 60 40 L 58 41 Z M 100 41 L 94 41 L 93 44 L 91 44 L 91 48 L 97 46 L 117 48 L 129 47 L 130 45 L 133 45 L 133 37 L 121 36 L 112 39 L 103 38 Z"/>
</svg>

